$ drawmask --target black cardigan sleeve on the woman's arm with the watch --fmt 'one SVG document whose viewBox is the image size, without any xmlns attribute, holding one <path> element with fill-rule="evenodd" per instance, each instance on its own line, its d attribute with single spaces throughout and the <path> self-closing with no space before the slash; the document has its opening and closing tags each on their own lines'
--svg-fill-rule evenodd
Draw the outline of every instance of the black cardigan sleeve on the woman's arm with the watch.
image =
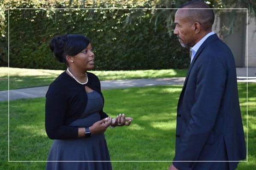
<svg viewBox="0 0 256 170">
<path fill-rule="evenodd" d="M 77 139 L 78 127 L 64 125 L 67 96 L 57 85 L 52 85 L 46 95 L 45 129 L 50 139 Z"/>
</svg>

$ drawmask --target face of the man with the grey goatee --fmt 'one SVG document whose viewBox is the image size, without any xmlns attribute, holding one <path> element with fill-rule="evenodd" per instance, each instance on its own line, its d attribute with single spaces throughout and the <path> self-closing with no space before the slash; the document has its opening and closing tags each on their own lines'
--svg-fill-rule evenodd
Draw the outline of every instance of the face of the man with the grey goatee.
<svg viewBox="0 0 256 170">
<path fill-rule="evenodd" d="M 189 9 L 178 9 L 175 14 L 175 30 L 180 45 L 183 47 L 193 47 L 195 45 L 195 33 L 192 21 L 189 20 L 187 11 Z"/>
</svg>

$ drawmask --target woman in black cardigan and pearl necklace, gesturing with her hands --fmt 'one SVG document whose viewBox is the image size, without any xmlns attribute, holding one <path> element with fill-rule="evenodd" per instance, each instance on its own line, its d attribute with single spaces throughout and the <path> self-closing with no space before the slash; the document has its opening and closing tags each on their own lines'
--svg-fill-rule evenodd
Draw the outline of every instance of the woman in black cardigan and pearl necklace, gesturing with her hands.
<svg viewBox="0 0 256 170">
<path fill-rule="evenodd" d="M 132 118 L 111 119 L 102 111 L 104 99 L 94 67 L 90 40 L 79 34 L 53 37 L 50 48 L 67 64 L 46 94 L 45 127 L 53 141 L 47 170 L 111 170 L 104 132 L 130 125 Z M 72 162 L 71 162 L 72 161 Z"/>
</svg>

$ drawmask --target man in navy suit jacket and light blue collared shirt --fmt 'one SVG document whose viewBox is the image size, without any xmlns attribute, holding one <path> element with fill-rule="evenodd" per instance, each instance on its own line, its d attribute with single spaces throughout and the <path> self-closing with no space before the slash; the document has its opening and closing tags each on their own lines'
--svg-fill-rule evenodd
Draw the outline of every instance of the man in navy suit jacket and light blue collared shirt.
<svg viewBox="0 0 256 170">
<path fill-rule="evenodd" d="M 246 158 L 236 65 L 230 48 L 212 31 L 213 22 L 212 9 L 201 0 L 175 14 L 174 34 L 183 47 L 192 47 L 192 58 L 177 105 L 169 170 L 234 170 Z"/>
</svg>

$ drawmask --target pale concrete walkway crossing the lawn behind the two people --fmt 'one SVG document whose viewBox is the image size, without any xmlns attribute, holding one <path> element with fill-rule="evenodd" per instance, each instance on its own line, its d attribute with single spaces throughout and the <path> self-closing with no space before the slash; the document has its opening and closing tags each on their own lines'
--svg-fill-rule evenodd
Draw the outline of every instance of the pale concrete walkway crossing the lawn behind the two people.
<svg viewBox="0 0 256 170">
<path fill-rule="evenodd" d="M 102 90 L 113 88 L 132 88 L 155 85 L 182 85 L 185 77 L 158 79 L 125 79 L 101 81 Z M 255 82 L 256 77 L 237 77 L 238 82 Z M 9 100 L 45 97 L 49 86 L 22 88 L 9 91 Z M 8 101 L 8 91 L 0 91 L 0 101 Z"/>
</svg>

